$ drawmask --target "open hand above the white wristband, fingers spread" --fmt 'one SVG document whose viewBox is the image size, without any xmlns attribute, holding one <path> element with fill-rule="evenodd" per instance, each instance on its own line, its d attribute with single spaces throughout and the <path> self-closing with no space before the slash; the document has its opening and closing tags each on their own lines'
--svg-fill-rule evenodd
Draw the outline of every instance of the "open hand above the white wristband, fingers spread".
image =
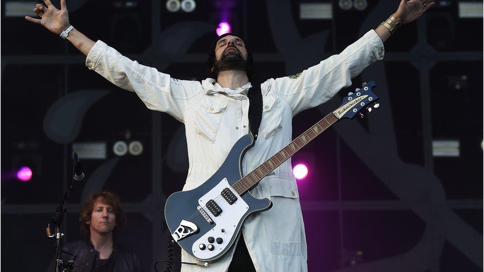
<svg viewBox="0 0 484 272">
<path fill-rule="evenodd" d="M 25 19 L 41 24 L 51 32 L 60 35 L 62 31 L 70 26 L 65 0 L 60 0 L 60 9 L 57 9 L 50 0 L 44 0 L 44 2 L 46 3 L 45 5 L 37 4 L 34 8 L 34 12 L 42 19 L 34 19 L 29 16 L 25 16 Z"/>
</svg>

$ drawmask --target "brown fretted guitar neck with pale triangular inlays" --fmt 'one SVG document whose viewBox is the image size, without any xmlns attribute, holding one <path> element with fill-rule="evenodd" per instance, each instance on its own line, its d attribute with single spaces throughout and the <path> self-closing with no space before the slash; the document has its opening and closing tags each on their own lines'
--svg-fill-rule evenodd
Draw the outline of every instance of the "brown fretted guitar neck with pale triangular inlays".
<svg viewBox="0 0 484 272">
<path fill-rule="evenodd" d="M 333 113 L 329 113 L 315 125 L 304 131 L 303 134 L 294 139 L 294 141 L 277 152 L 274 156 L 260 164 L 257 168 L 245 175 L 241 180 L 234 183 L 232 188 L 234 188 L 239 195 L 242 195 L 255 184 L 257 184 L 268 173 L 272 172 L 275 168 L 277 168 L 277 166 L 291 158 L 294 154 L 296 154 L 296 152 L 303 148 L 303 146 L 312 141 L 314 138 L 316 138 L 316 136 L 321 134 L 338 120 L 339 119 Z"/>
</svg>

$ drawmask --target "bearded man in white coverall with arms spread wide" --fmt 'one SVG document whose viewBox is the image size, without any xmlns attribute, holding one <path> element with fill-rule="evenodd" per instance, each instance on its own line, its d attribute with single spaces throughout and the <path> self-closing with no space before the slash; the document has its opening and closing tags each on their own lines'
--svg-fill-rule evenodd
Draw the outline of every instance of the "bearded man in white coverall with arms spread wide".
<svg viewBox="0 0 484 272">
<path fill-rule="evenodd" d="M 95 43 L 73 29 L 65 0 L 60 1 L 60 10 L 49 0 L 45 2 L 47 8 L 40 4 L 34 8 L 42 19 L 26 19 L 66 38 L 87 55 L 89 69 L 135 92 L 149 109 L 167 112 L 184 123 L 189 169 L 183 190 L 206 181 L 245 134 L 252 133 L 257 140 L 244 156 L 244 173 L 274 155 L 291 142 L 293 116 L 328 101 L 350 86 L 352 78 L 383 58 L 383 42 L 400 25 L 419 18 L 434 4 L 431 0 L 402 0 L 390 18 L 341 54 L 296 75 L 271 78 L 252 86 L 252 54 L 240 35 L 222 35 L 212 44 L 207 61 L 209 78 L 202 82 L 178 80 L 140 65 L 102 41 Z M 250 192 L 257 198 L 270 198 L 273 207 L 248 217 L 237 246 L 211 264 L 209 270 L 307 271 L 304 224 L 290 160 L 269 173 Z M 182 261 L 196 262 L 185 252 Z M 182 271 L 203 270 L 206 269 L 182 266 Z"/>
</svg>

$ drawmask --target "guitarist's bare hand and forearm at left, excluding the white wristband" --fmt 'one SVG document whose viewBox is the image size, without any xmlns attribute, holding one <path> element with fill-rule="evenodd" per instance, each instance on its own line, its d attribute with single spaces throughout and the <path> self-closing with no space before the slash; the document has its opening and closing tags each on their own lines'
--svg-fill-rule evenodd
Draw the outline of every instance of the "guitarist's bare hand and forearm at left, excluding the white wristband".
<svg viewBox="0 0 484 272">
<path fill-rule="evenodd" d="M 37 4 L 34 8 L 34 12 L 39 15 L 41 19 L 35 19 L 30 16 L 25 16 L 25 19 L 36 24 L 41 24 L 52 33 L 60 35 L 62 31 L 70 26 L 65 0 L 60 0 L 60 9 L 57 9 L 50 0 L 45 0 L 44 2 L 47 6 Z M 82 34 L 75 28 L 69 32 L 66 39 L 86 56 L 94 46 L 93 40 L 87 38 L 86 35 Z"/>
</svg>

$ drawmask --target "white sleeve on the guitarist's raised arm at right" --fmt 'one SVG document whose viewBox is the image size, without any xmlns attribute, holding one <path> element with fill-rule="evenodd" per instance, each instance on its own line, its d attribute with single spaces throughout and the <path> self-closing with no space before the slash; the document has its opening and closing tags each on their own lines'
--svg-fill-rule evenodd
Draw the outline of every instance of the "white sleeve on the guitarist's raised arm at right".
<svg viewBox="0 0 484 272">
<path fill-rule="evenodd" d="M 364 68 L 384 56 L 383 43 L 374 30 L 348 46 L 340 54 L 332 55 L 303 72 L 272 80 L 270 91 L 291 107 L 293 116 L 323 104 Z"/>
</svg>

